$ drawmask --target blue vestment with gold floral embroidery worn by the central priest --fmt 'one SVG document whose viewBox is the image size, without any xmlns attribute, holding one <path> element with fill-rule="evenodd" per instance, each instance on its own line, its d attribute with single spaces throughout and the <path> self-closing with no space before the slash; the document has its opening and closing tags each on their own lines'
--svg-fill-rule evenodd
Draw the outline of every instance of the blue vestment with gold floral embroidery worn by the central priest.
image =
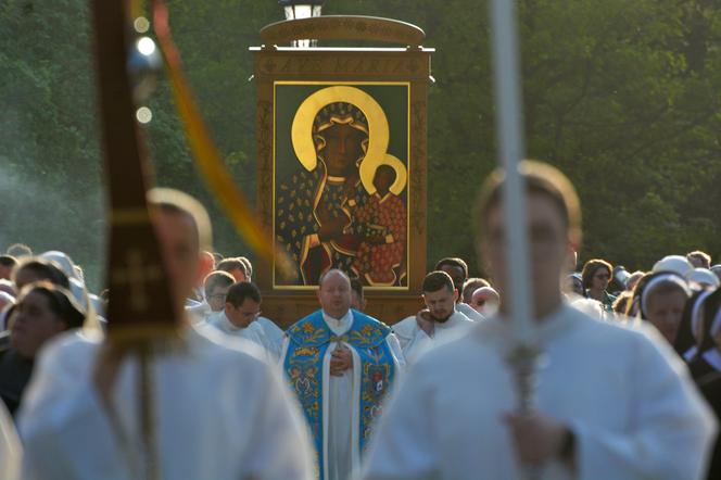
<svg viewBox="0 0 721 480">
<path fill-rule="evenodd" d="M 320 478 L 322 479 L 322 358 L 331 342 L 344 342 L 360 357 L 360 451 L 370 437 L 375 417 L 380 414 L 381 402 L 395 376 L 395 364 L 385 338 L 390 327 L 355 310 L 353 324 L 342 336 L 336 336 L 317 311 L 287 331 L 290 339 L 283 369 L 291 389 L 303 406 L 311 426 Z M 354 366 L 355 367 L 355 366 Z"/>
</svg>

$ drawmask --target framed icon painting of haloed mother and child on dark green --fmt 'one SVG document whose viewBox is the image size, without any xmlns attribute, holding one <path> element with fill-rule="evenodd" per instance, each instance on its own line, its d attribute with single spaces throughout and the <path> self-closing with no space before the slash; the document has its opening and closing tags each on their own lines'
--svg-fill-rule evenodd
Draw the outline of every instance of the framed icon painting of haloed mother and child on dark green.
<svg viewBox="0 0 721 480">
<path fill-rule="evenodd" d="M 407 289 L 409 83 L 274 84 L 275 289 L 329 268 Z"/>
</svg>

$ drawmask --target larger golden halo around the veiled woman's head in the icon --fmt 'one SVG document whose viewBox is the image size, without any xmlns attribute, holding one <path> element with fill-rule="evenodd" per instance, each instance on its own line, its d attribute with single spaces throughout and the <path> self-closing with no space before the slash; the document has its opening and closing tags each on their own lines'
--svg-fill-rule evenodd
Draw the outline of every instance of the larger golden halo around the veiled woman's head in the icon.
<svg viewBox="0 0 721 480">
<path fill-rule="evenodd" d="M 313 121 L 320 110 L 334 102 L 352 103 L 357 106 L 368 121 L 368 151 L 363 163 L 379 164 L 388 149 L 389 128 L 385 112 L 378 102 L 365 91 L 337 85 L 309 94 L 295 112 L 291 127 L 293 150 L 301 165 L 313 172 L 318 164 L 318 156 L 313 141 Z M 372 178 L 371 178 L 372 184 Z"/>
</svg>

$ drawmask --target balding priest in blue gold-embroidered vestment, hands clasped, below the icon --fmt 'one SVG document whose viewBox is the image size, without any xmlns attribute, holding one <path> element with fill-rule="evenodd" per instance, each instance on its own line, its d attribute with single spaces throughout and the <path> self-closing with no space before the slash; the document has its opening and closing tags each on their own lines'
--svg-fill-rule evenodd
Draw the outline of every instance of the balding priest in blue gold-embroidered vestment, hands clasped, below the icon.
<svg viewBox="0 0 721 480">
<path fill-rule="evenodd" d="M 319 280 L 320 310 L 287 331 L 283 370 L 316 446 L 318 478 L 345 480 L 405 365 L 390 327 L 351 308 L 351 280 L 330 269 Z"/>
</svg>

